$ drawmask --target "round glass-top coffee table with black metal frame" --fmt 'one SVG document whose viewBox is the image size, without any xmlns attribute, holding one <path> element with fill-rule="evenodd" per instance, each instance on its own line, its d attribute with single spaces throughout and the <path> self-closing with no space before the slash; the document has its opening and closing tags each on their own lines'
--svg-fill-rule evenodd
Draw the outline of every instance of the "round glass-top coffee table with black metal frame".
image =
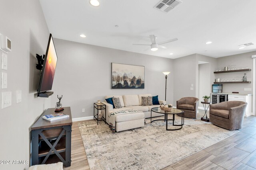
<svg viewBox="0 0 256 170">
<path fill-rule="evenodd" d="M 164 114 L 165 119 L 157 119 L 157 120 L 153 120 L 152 121 L 152 111 L 156 112 L 156 113 L 162 113 Z M 174 119 L 175 119 L 175 115 L 177 114 L 181 114 L 181 124 L 180 125 L 174 125 Z M 168 119 L 168 115 L 172 115 L 172 119 Z M 160 107 L 154 107 L 151 109 L 151 113 L 150 113 L 150 122 L 154 122 L 154 121 L 166 121 L 166 131 L 176 131 L 176 130 L 180 130 L 182 129 L 182 125 L 184 125 L 184 111 L 180 110 L 180 109 L 174 109 L 172 108 L 171 111 L 164 111 L 161 110 Z M 173 126 L 181 126 L 180 128 L 177 129 L 168 129 L 168 120 L 172 120 L 172 125 Z"/>
</svg>

